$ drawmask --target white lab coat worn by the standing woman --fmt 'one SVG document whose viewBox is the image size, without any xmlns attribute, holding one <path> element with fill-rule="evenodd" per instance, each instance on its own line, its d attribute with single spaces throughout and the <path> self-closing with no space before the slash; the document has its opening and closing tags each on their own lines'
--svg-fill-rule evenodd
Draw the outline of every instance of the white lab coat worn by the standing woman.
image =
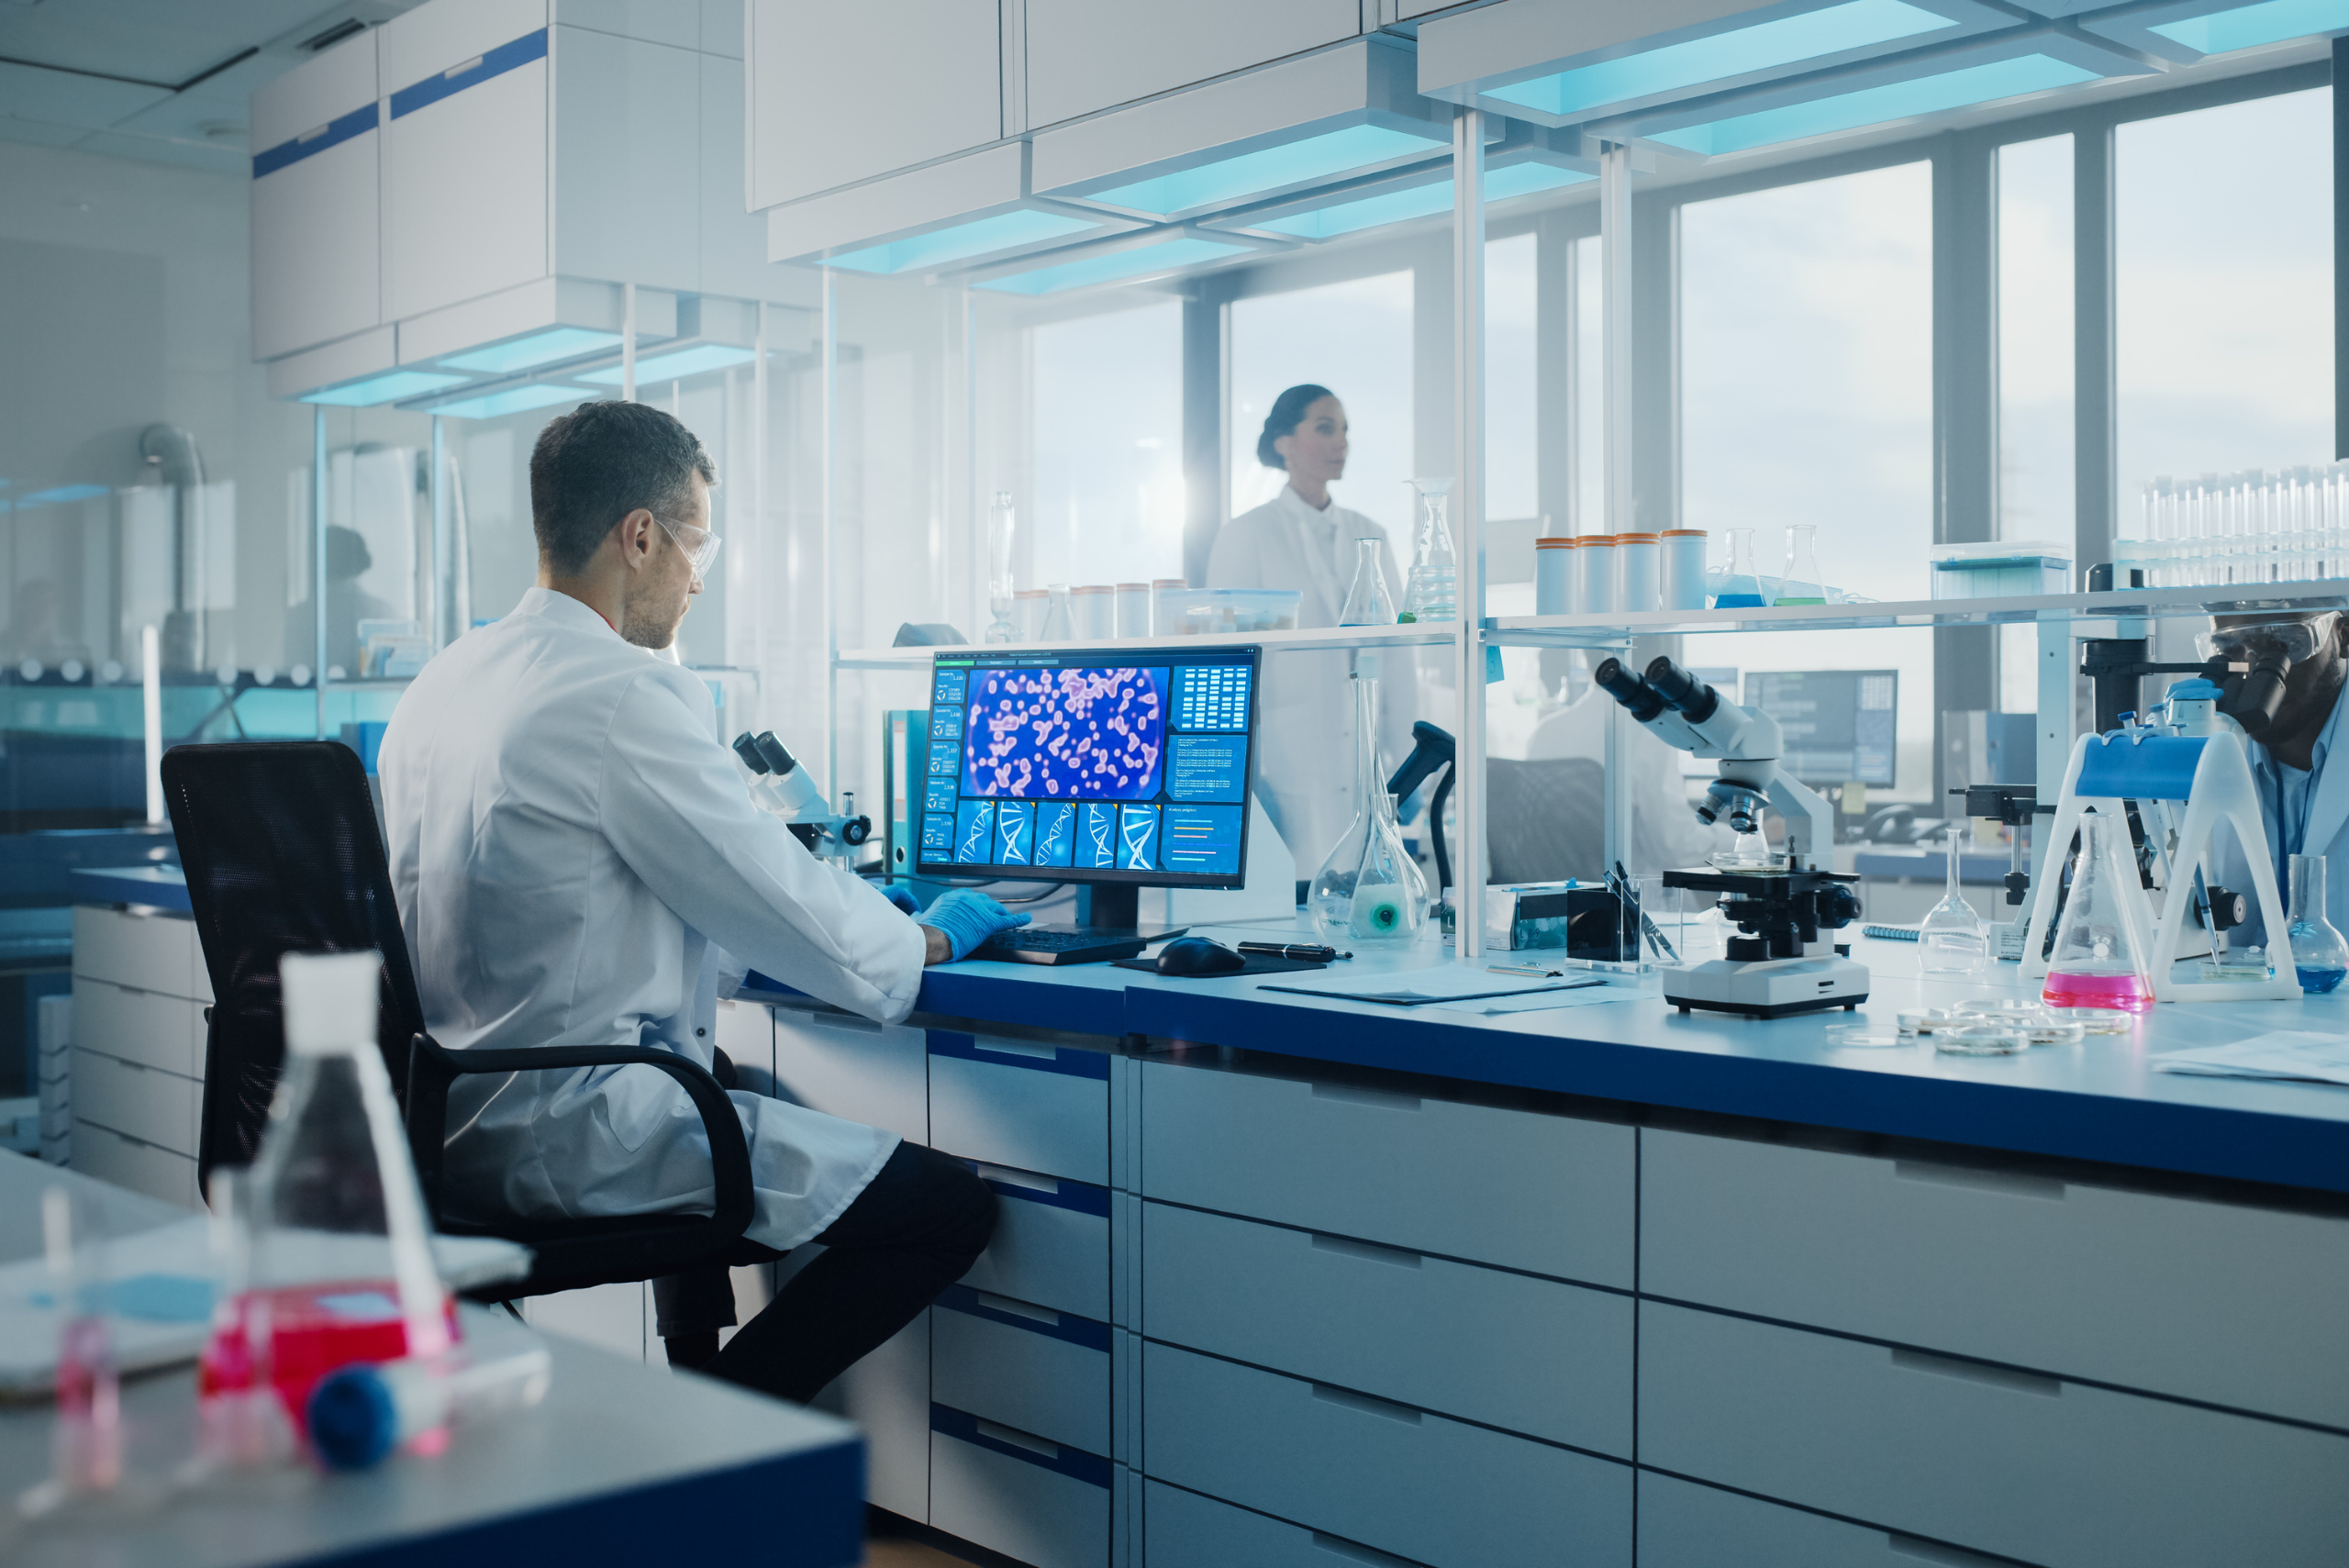
<svg viewBox="0 0 2349 1568">
<path fill-rule="evenodd" d="M 1379 540 L 1386 592 L 1402 601 L 1402 573 L 1386 530 L 1334 500 L 1315 512 L 1290 486 L 1254 512 L 1224 523 L 1207 556 L 1207 587 L 1299 589 L 1299 627 L 1334 627 L 1353 587 L 1353 542 Z M 1348 653 L 1280 653 L 1264 660 L 1257 697 L 1257 798 L 1311 878 L 1353 822 L 1353 690 Z M 1412 751 L 1419 676 L 1409 650 L 1379 660 L 1381 765 L 1400 768 Z"/>
</svg>

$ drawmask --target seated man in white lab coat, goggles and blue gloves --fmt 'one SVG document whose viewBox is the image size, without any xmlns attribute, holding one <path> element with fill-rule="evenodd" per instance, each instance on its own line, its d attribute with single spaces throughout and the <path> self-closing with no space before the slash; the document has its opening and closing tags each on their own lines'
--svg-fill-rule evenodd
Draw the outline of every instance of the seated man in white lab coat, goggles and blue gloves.
<svg viewBox="0 0 2349 1568">
<path fill-rule="evenodd" d="M 644 404 L 557 418 L 531 453 L 538 587 L 435 657 L 383 737 L 392 887 L 425 1021 L 451 1047 L 632 1045 L 719 1066 L 716 1000 L 756 967 L 895 1021 L 926 962 L 1015 925 L 942 899 L 916 925 L 749 800 L 674 655 L 709 533 L 709 458 Z M 655 1282 L 674 1364 L 810 1399 L 958 1279 L 994 1195 L 895 1134 L 759 1094 L 747 1239 L 827 1253 L 716 1354 L 723 1272 Z M 700 1115 L 644 1066 L 463 1077 L 451 1207 L 604 1216 L 714 1202 Z"/>
</svg>

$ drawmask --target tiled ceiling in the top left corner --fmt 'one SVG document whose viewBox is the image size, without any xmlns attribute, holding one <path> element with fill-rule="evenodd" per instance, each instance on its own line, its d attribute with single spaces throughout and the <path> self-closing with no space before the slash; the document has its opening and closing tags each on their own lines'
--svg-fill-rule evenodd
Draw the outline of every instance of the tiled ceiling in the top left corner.
<svg viewBox="0 0 2349 1568">
<path fill-rule="evenodd" d="M 0 0 L 0 138 L 242 174 L 244 103 L 418 0 Z"/>
</svg>

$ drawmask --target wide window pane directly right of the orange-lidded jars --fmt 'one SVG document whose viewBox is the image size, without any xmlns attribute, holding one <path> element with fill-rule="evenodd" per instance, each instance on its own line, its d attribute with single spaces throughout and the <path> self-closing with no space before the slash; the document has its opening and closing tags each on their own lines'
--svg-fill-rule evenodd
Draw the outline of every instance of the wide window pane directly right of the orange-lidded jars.
<svg viewBox="0 0 2349 1568">
<path fill-rule="evenodd" d="M 1778 575 L 1818 526 L 1830 584 L 1921 599 L 1933 540 L 1933 178 L 1924 162 L 1682 207 L 1682 516 Z M 1755 634 L 1748 671 L 1900 671 L 1898 789 L 1931 789 L 1926 634 Z M 1691 650 L 1691 657 L 1712 657 Z"/>
</svg>

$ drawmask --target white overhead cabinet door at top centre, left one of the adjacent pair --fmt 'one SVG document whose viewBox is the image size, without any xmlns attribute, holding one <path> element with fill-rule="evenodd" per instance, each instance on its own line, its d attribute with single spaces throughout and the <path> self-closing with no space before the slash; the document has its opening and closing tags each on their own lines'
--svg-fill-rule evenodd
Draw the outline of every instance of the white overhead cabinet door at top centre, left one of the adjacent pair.
<svg viewBox="0 0 2349 1568">
<path fill-rule="evenodd" d="M 752 0 L 749 204 L 1003 136 L 996 0 Z"/>
</svg>

